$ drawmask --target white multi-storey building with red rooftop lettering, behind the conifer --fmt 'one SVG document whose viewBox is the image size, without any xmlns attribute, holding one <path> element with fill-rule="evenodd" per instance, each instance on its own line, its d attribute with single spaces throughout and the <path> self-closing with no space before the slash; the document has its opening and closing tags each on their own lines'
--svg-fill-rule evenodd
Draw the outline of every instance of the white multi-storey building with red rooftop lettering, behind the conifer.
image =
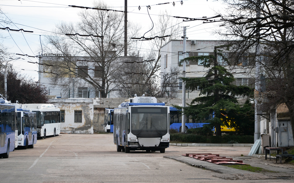
<svg viewBox="0 0 294 183">
<path fill-rule="evenodd" d="M 225 44 L 223 41 L 216 40 L 188 40 L 186 41 L 186 57 L 214 55 L 214 47 L 223 44 Z M 171 91 L 176 98 L 182 97 L 181 73 L 183 71 L 183 66 L 180 61 L 183 59 L 183 54 L 181 53 L 183 53 L 183 40 L 170 40 L 161 47 L 161 76 L 171 73 L 174 68 L 179 71 L 177 77 L 178 88 Z M 224 56 L 227 54 L 225 51 L 222 53 Z M 226 66 L 230 72 L 235 73 L 233 74 L 236 80 L 234 84 L 253 84 L 254 73 L 248 72 L 246 68 L 248 61 L 246 59 L 241 60 L 238 66 L 228 66 L 220 56 L 218 57 L 218 62 L 220 65 Z M 205 68 L 200 62 L 186 63 L 186 78 L 204 77 L 207 70 L 208 68 Z M 163 80 L 163 77 L 161 80 Z M 186 91 L 186 98 L 196 98 L 199 96 L 199 93 L 200 91 Z"/>
</svg>

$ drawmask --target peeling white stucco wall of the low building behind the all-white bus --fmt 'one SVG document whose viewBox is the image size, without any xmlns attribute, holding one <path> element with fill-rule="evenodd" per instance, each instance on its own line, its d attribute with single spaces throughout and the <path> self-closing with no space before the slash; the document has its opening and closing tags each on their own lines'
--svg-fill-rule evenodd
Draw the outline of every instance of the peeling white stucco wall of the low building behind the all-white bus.
<svg viewBox="0 0 294 183">
<path fill-rule="evenodd" d="M 93 99 L 66 98 L 50 99 L 60 110 L 64 110 L 64 122 L 61 122 L 60 131 L 66 133 L 93 134 Z M 82 111 L 82 122 L 74 122 L 74 111 Z"/>
</svg>

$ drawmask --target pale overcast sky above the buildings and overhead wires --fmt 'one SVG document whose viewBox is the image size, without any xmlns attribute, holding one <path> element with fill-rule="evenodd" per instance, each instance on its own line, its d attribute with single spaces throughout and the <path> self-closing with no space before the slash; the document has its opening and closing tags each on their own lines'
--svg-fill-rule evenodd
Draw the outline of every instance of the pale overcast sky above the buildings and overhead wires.
<svg viewBox="0 0 294 183">
<path fill-rule="evenodd" d="M 107 0 L 105 1 L 110 9 L 124 10 L 124 0 Z M 170 2 L 170 4 L 161 3 Z M 3 39 L 3 44 L 9 47 L 11 58 L 21 57 L 21 59 L 11 61 L 16 70 L 38 80 L 38 65 L 30 62 L 38 62 L 37 58 L 26 56 L 18 56 L 19 54 L 27 54 L 29 56 L 39 55 L 41 50 L 41 40 L 44 36 L 55 28 L 55 25 L 61 21 L 77 22 L 77 13 L 82 9 L 69 7 L 68 5 L 93 7 L 92 0 L 0 0 L 1 11 L 5 14 L 1 19 L 12 21 L 14 24 L 8 25 L 1 21 L 1 28 L 9 27 L 11 29 L 24 29 L 25 31 L 34 31 L 34 33 L 21 33 L 16 31 L 0 30 L 1 34 L 6 37 Z M 219 11 L 223 11 L 224 7 L 220 1 L 213 0 L 183 0 L 183 5 L 180 1 L 166 0 L 128 0 L 128 21 L 138 23 L 142 27 L 142 34 L 148 31 L 151 20 L 147 13 L 146 6 L 150 5 L 151 19 L 156 21 L 160 11 L 167 10 L 172 16 L 181 16 L 189 18 L 201 18 L 203 16 L 211 17 Z M 141 10 L 138 10 L 138 6 Z M 97 11 L 88 9 L 87 11 Z M 7 16 L 7 17 L 6 17 Z M 176 18 L 174 18 L 176 19 Z M 182 21 L 182 19 L 180 19 Z M 187 37 L 189 40 L 218 40 L 218 35 L 210 33 L 211 28 L 218 27 L 214 23 L 203 24 L 203 21 L 183 22 L 180 26 L 189 26 Z M 10 33 L 10 34 L 9 34 Z M 143 35 L 142 35 L 143 36 Z M 181 37 L 178 37 L 181 39 Z"/>
</svg>

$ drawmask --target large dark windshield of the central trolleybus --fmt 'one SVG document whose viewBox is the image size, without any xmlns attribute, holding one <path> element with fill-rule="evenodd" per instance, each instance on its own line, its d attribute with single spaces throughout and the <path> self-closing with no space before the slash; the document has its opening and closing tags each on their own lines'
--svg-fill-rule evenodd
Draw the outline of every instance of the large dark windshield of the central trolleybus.
<svg viewBox="0 0 294 183">
<path fill-rule="evenodd" d="M 137 137 L 162 137 L 168 132 L 167 108 L 132 107 L 131 132 Z"/>
</svg>

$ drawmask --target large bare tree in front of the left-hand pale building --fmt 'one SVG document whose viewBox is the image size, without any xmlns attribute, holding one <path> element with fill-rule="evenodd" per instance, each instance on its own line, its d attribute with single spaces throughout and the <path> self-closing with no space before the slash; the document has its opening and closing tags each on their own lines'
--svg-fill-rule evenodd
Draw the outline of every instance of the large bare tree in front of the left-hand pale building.
<svg viewBox="0 0 294 183">
<path fill-rule="evenodd" d="M 95 2 L 97 8 L 109 9 L 102 2 Z M 106 97 L 111 91 L 118 90 L 120 70 L 124 62 L 121 55 L 124 50 L 123 13 L 102 10 L 83 10 L 79 14 L 80 22 L 60 23 L 55 34 L 47 36 L 43 57 L 44 72 L 54 84 L 90 85 Z M 135 36 L 138 27 L 128 23 L 129 37 Z M 76 33 L 80 35 L 75 35 Z M 63 36 L 62 36 L 63 35 Z M 75 35 L 75 36 L 73 36 Z M 128 45 L 132 40 L 128 41 Z M 129 50 L 131 51 L 131 50 Z"/>
</svg>

